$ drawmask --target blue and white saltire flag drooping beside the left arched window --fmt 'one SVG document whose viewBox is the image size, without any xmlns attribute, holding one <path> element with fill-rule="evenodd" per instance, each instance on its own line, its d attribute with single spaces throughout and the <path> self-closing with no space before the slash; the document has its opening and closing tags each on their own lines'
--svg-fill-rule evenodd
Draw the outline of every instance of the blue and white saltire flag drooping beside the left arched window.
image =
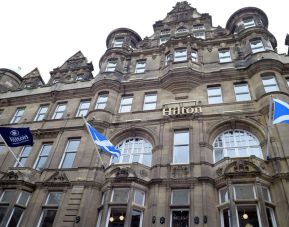
<svg viewBox="0 0 289 227">
<path fill-rule="evenodd" d="M 103 151 L 109 154 L 119 157 L 120 151 L 112 145 L 112 143 L 101 133 L 99 133 L 95 128 L 93 128 L 89 123 L 86 123 L 88 132 L 93 139 L 94 143 Z"/>
</svg>

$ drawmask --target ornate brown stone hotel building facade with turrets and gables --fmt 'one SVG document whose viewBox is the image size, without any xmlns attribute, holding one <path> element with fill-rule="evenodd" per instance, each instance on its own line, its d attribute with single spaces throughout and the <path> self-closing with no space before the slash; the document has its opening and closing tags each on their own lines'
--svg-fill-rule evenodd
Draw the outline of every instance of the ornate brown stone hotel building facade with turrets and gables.
<svg viewBox="0 0 289 227">
<path fill-rule="evenodd" d="M 23 167 L 0 142 L 0 226 L 288 226 L 289 126 L 267 131 L 289 57 L 267 28 L 258 8 L 222 28 L 178 2 L 150 37 L 113 30 L 95 77 L 81 52 L 47 84 L 0 69 L 0 126 L 34 136 Z M 102 166 L 82 115 L 120 158 Z"/>
</svg>

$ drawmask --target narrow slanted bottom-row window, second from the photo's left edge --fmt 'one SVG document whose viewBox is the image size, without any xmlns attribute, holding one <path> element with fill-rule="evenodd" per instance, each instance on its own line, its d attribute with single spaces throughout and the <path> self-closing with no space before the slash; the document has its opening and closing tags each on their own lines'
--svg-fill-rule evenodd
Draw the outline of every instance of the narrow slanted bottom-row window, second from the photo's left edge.
<svg viewBox="0 0 289 227">
<path fill-rule="evenodd" d="M 15 227 L 19 226 L 19 223 L 22 219 L 23 212 L 27 207 L 27 204 L 30 199 L 30 193 L 26 191 L 22 191 L 17 199 L 16 205 L 14 206 L 12 213 L 8 219 L 6 227 Z"/>
</svg>

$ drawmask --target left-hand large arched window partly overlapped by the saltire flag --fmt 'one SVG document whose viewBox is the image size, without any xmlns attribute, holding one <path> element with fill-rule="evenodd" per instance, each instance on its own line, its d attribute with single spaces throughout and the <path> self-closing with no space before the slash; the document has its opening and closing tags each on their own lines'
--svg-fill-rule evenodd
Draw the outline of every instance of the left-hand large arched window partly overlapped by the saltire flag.
<svg viewBox="0 0 289 227">
<path fill-rule="evenodd" d="M 146 166 L 151 166 L 152 145 L 149 141 L 140 137 L 133 137 L 123 140 L 117 145 L 121 156 L 112 157 L 111 163 L 133 163 L 138 162 Z"/>
</svg>

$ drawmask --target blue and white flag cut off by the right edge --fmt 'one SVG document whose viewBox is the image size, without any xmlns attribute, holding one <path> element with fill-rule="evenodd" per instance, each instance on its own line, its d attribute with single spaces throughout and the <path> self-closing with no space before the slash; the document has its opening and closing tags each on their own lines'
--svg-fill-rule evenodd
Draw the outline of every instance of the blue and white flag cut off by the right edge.
<svg viewBox="0 0 289 227">
<path fill-rule="evenodd" d="M 273 99 L 274 114 L 273 124 L 287 123 L 289 124 L 289 104 L 279 99 Z"/>
</svg>

